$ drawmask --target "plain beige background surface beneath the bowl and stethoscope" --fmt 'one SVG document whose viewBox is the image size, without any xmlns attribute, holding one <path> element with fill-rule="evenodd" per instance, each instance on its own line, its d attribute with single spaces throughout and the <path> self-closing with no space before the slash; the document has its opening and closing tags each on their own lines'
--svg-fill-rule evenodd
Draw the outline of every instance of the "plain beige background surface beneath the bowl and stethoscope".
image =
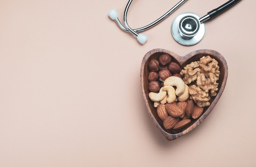
<svg viewBox="0 0 256 167">
<path fill-rule="evenodd" d="M 203 16 L 227 0 L 189 0 L 145 31 L 140 45 L 108 17 L 127 0 L 0 1 L 1 167 L 253 167 L 256 165 L 256 1 L 242 0 L 206 23 L 204 39 L 177 44 L 180 13 Z M 178 1 L 134 0 L 131 27 Z M 139 71 L 154 48 L 178 55 L 220 52 L 225 91 L 197 128 L 167 141 L 150 119 Z"/>
</svg>

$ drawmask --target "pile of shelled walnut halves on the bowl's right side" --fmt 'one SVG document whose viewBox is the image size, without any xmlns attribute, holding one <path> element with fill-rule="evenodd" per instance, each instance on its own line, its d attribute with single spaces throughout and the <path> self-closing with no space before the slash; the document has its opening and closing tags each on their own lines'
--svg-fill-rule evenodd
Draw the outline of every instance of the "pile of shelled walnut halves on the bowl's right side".
<svg viewBox="0 0 256 167">
<path fill-rule="evenodd" d="M 189 86 L 191 99 L 199 107 L 209 106 L 209 100 L 216 96 L 220 67 L 218 62 L 208 56 L 203 56 L 199 61 L 191 62 L 181 70 L 180 75 Z"/>
</svg>

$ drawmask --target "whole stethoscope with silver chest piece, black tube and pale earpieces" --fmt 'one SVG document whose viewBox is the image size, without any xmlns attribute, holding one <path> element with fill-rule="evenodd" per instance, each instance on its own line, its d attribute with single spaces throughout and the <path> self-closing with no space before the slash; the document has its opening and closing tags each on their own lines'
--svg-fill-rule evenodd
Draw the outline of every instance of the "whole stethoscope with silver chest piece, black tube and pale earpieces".
<svg viewBox="0 0 256 167">
<path fill-rule="evenodd" d="M 144 44 L 148 37 L 144 34 L 141 34 L 139 32 L 145 31 L 147 29 L 150 29 L 151 27 L 155 26 L 162 20 L 164 20 L 166 17 L 168 17 L 173 11 L 175 11 L 178 7 L 180 7 L 186 0 L 181 0 L 178 2 L 173 8 L 171 8 L 167 13 L 162 15 L 159 19 L 155 20 L 154 22 L 148 24 L 147 26 L 141 27 L 139 29 L 132 29 L 127 23 L 127 12 L 130 7 L 130 4 L 132 0 L 129 0 L 128 4 L 126 5 L 126 9 L 124 11 L 124 24 L 123 26 L 118 19 L 118 14 L 115 9 L 112 9 L 109 11 L 108 15 L 112 20 L 115 20 L 119 27 L 123 29 L 124 31 L 128 31 L 135 36 L 137 36 L 137 40 Z M 195 13 L 182 13 L 178 15 L 172 23 L 171 26 L 171 32 L 173 35 L 173 38 L 183 45 L 194 45 L 197 44 L 202 40 L 205 34 L 205 25 L 204 22 L 206 20 L 210 20 L 215 18 L 220 13 L 226 11 L 230 7 L 232 7 L 234 4 L 239 2 L 240 0 L 229 0 L 225 4 L 222 4 L 220 7 L 213 9 L 209 11 L 206 15 L 204 15 L 202 18 L 200 18 Z"/>
</svg>

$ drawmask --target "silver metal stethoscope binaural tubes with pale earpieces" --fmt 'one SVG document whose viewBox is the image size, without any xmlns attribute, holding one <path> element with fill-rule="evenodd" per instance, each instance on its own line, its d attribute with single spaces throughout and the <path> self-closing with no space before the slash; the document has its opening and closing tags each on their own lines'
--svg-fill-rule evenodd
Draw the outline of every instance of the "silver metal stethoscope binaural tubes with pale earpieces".
<svg viewBox="0 0 256 167">
<path fill-rule="evenodd" d="M 124 24 L 125 24 L 125 26 L 123 26 L 123 24 L 121 24 L 120 20 L 118 19 L 118 14 L 117 14 L 117 11 L 115 9 L 110 10 L 108 12 L 108 15 L 112 20 L 116 21 L 116 23 L 119 25 L 119 27 L 121 29 L 123 29 L 124 31 L 131 32 L 132 34 L 136 35 L 137 40 L 141 44 L 144 44 L 148 37 L 146 35 L 138 33 L 138 32 L 145 31 L 145 30 L 155 26 L 156 24 L 158 24 L 159 22 L 161 22 L 162 20 L 167 18 L 171 13 L 173 13 L 173 11 L 175 11 L 178 7 L 180 7 L 180 5 L 182 5 L 185 1 L 186 0 L 180 0 L 180 2 L 178 2 L 173 8 L 171 8 L 168 12 L 166 12 L 164 15 L 162 15 L 159 19 L 157 19 L 154 22 L 152 22 L 152 23 L 150 23 L 150 24 L 148 24 L 144 27 L 141 27 L 139 29 L 131 29 L 130 26 L 128 25 L 127 19 L 126 19 L 127 18 L 127 12 L 128 12 L 128 9 L 130 7 L 130 4 L 131 4 L 132 0 L 129 0 L 129 2 L 126 5 L 126 9 L 124 11 Z"/>
</svg>

